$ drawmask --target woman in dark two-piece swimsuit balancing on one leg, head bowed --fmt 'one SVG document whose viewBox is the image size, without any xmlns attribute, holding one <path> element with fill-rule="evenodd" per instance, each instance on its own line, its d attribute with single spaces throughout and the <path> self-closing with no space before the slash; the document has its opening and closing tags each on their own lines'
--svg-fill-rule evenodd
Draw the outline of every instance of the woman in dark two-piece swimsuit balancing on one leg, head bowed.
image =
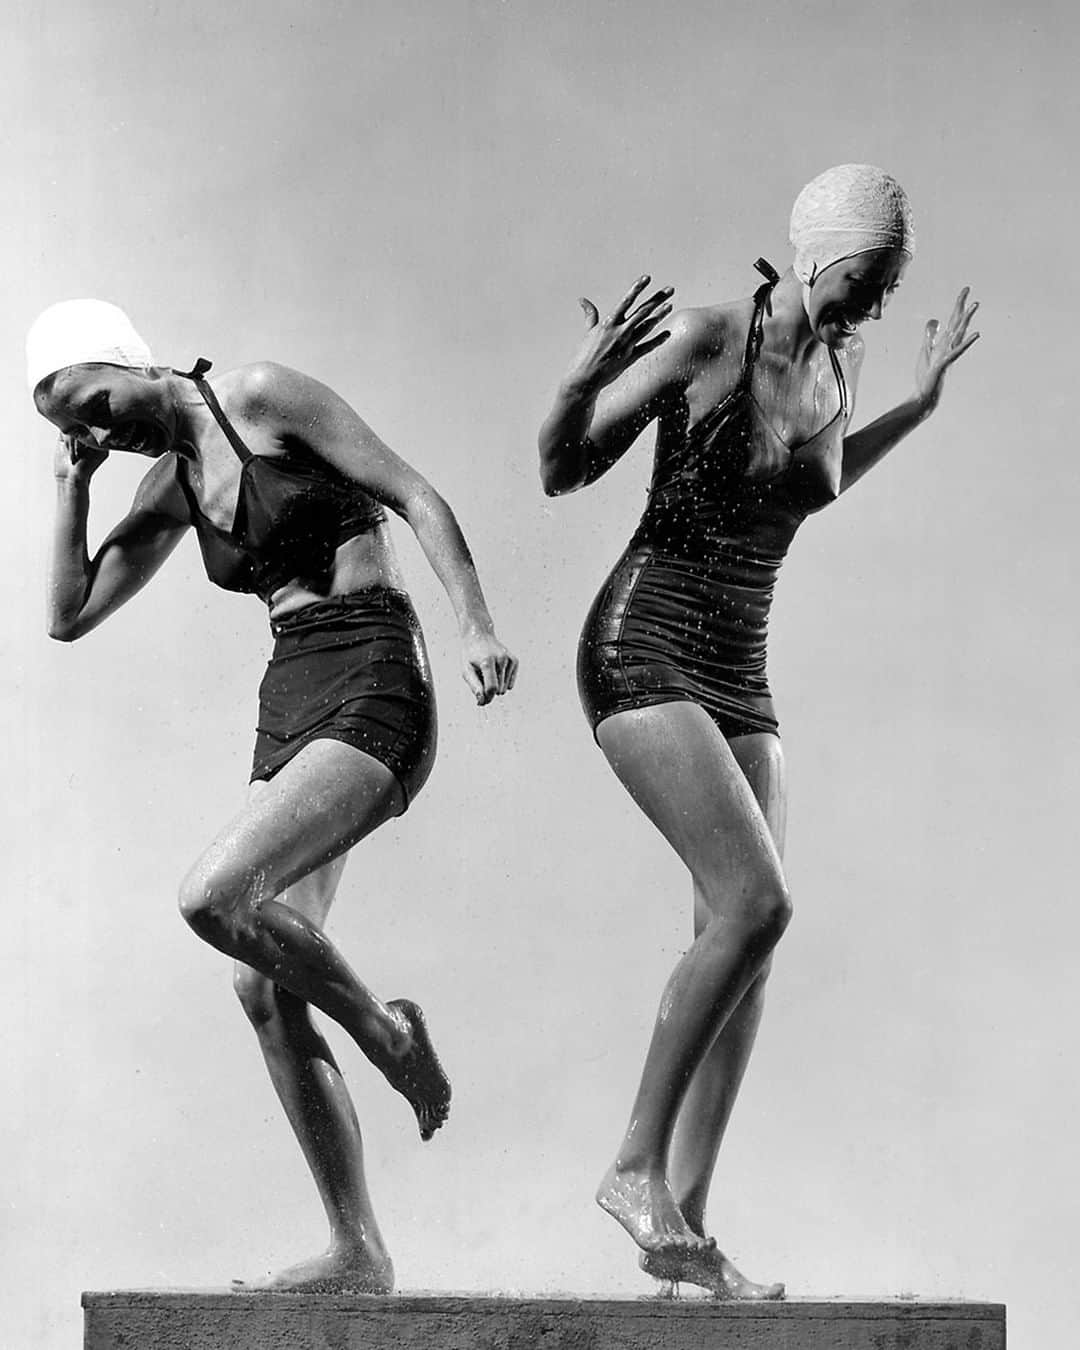
<svg viewBox="0 0 1080 1350">
<path fill-rule="evenodd" d="M 205 360 L 159 366 L 127 316 L 94 300 L 47 309 L 27 358 L 38 412 L 61 432 L 50 634 L 96 628 L 189 528 L 212 582 L 267 605 L 274 653 L 247 805 L 190 869 L 180 905 L 236 961 L 236 994 L 329 1220 L 328 1250 L 269 1287 L 389 1292 L 356 1115 L 309 1011 L 348 1031 L 431 1138 L 450 1083 L 420 1008 L 378 999 L 323 930 L 348 850 L 408 807 L 435 757 L 428 657 L 383 506 L 409 522 L 450 595 L 478 703 L 513 686 L 517 662 L 450 506 L 325 385 L 270 362 L 212 381 Z M 90 478 L 112 451 L 153 464 L 90 558 Z"/>
</svg>

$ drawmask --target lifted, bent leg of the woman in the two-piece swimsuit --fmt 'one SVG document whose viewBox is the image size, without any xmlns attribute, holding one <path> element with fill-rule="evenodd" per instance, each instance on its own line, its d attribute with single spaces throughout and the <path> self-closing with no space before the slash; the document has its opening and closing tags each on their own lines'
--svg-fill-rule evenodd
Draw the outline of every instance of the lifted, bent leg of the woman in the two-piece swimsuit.
<svg viewBox="0 0 1080 1350">
<path fill-rule="evenodd" d="M 340 741 L 315 741 L 215 840 L 180 903 L 212 946 L 339 1022 L 431 1138 L 450 1110 L 450 1083 L 420 1010 L 379 1002 L 321 929 L 281 899 L 400 810 L 401 787 L 383 764 Z"/>
</svg>

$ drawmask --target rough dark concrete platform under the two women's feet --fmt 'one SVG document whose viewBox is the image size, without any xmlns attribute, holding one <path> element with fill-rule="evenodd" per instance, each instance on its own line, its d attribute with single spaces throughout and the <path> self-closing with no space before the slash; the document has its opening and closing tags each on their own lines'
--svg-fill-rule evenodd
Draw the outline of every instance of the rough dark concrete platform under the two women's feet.
<svg viewBox="0 0 1080 1350">
<path fill-rule="evenodd" d="M 1004 1350 L 1000 1303 L 84 1293 L 85 1350 Z"/>
</svg>

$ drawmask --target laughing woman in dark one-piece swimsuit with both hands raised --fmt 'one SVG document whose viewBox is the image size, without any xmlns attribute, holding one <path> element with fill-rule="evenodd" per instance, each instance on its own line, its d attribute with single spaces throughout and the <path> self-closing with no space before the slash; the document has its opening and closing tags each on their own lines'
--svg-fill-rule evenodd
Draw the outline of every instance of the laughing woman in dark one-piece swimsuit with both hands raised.
<svg viewBox="0 0 1080 1350">
<path fill-rule="evenodd" d="M 765 678 L 772 589 L 791 539 L 937 406 L 976 340 L 964 289 L 932 320 L 913 394 L 848 433 L 860 325 L 880 319 L 914 254 L 907 198 L 869 165 L 799 194 L 794 265 L 748 300 L 674 316 L 637 281 L 589 332 L 540 431 L 549 495 L 599 478 L 657 421 L 641 522 L 597 597 L 578 682 L 609 764 L 694 884 L 695 940 L 675 967 L 630 1123 L 597 1199 L 641 1266 L 718 1296 L 775 1299 L 706 1237 L 717 1153 L 790 917 L 784 776 Z"/>
</svg>

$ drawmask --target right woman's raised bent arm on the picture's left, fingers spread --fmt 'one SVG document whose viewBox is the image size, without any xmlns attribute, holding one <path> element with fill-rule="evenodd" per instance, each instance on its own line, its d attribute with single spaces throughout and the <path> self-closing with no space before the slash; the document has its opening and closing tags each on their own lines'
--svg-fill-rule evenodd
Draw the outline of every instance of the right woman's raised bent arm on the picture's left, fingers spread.
<svg viewBox="0 0 1080 1350">
<path fill-rule="evenodd" d="M 548 497 L 572 493 L 606 473 L 657 414 L 671 387 L 679 360 L 672 348 L 679 344 L 667 344 L 670 332 L 649 336 L 671 313 L 671 288 L 630 308 L 648 284 L 640 277 L 606 319 L 591 300 L 580 302 L 589 331 L 540 428 L 540 482 Z"/>
</svg>

